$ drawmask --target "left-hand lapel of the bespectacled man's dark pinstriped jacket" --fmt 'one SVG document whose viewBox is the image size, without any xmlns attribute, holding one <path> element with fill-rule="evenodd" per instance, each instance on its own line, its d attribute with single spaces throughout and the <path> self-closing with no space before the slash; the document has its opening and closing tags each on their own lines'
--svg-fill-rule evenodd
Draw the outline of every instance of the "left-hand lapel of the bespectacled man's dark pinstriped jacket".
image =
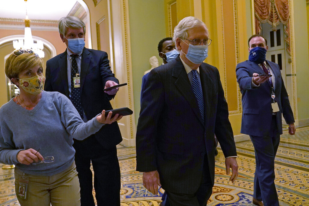
<svg viewBox="0 0 309 206">
<path fill-rule="evenodd" d="M 175 65 L 173 66 L 172 76 L 176 78 L 175 86 L 180 91 L 180 93 L 184 96 L 184 98 L 188 101 L 195 115 L 200 120 L 201 124 L 204 125 L 200 110 L 198 108 L 197 100 L 193 93 L 191 83 L 188 79 L 188 74 L 186 73 L 186 70 L 184 69 L 184 65 L 182 64 L 180 57 L 178 57 L 177 61 L 175 61 Z"/>
</svg>

